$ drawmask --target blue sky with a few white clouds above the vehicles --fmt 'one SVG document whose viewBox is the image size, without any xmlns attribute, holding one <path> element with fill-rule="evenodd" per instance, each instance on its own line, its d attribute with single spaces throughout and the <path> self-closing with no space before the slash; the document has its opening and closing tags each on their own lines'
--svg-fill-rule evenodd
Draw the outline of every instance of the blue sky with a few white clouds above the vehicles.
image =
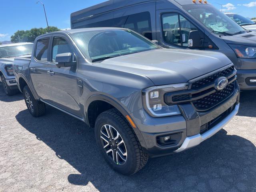
<svg viewBox="0 0 256 192">
<path fill-rule="evenodd" d="M 70 28 L 70 13 L 105 0 L 41 0 L 46 8 L 48 23 L 60 29 Z M 46 27 L 44 11 L 37 0 L 1 0 L 0 1 L 0 41 L 10 40 L 17 30 Z M 243 16 L 256 17 L 255 0 L 208 0 L 221 9 Z"/>
</svg>

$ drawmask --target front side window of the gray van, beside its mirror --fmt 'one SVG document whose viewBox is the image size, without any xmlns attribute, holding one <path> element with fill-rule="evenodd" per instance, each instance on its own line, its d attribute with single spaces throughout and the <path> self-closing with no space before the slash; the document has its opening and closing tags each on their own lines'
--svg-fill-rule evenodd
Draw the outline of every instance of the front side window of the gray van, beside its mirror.
<svg viewBox="0 0 256 192">
<path fill-rule="evenodd" d="M 188 47 L 190 31 L 198 30 L 194 24 L 178 13 L 162 15 L 163 38 L 168 44 Z"/>
</svg>

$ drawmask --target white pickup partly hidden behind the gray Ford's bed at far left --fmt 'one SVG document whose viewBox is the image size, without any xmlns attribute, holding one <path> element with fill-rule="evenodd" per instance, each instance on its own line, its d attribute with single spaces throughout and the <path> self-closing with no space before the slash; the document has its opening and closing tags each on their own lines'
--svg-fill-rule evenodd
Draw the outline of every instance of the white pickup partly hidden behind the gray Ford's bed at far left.
<svg viewBox="0 0 256 192">
<path fill-rule="evenodd" d="M 0 81 L 4 92 L 11 96 L 18 92 L 12 62 L 15 57 L 30 58 L 33 43 L 13 43 L 0 45 Z"/>
</svg>

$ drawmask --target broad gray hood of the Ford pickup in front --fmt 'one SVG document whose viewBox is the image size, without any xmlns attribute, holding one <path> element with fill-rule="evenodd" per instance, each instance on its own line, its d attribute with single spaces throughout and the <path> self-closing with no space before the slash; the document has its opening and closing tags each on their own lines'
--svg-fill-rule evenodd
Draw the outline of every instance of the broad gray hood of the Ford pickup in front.
<svg viewBox="0 0 256 192">
<path fill-rule="evenodd" d="M 188 82 L 231 61 L 218 52 L 157 49 L 106 59 L 94 65 L 147 76 L 155 85 Z"/>
</svg>

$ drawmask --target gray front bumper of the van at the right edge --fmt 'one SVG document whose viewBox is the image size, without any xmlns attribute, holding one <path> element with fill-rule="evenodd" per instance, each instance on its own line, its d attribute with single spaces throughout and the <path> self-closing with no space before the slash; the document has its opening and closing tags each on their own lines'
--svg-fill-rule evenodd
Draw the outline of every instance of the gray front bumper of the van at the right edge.
<svg viewBox="0 0 256 192">
<path fill-rule="evenodd" d="M 256 83 L 250 83 L 250 79 L 256 79 L 256 70 L 237 70 L 237 81 L 241 90 L 256 90 Z"/>
</svg>

